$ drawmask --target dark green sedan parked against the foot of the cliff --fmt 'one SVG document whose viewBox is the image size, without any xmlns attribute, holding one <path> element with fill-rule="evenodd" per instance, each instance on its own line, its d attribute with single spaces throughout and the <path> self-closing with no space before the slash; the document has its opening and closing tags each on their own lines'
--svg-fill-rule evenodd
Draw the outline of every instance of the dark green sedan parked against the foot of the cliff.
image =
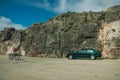
<svg viewBox="0 0 120 80">
<path fill-rule="evenodd" d="M 101 52 L 94 49 L 82 49 L 76 52 L 70 52 L 66 57 L 68 59 L 88 57 L 92 60 L 95 60 L 97 57 L 101 57 Z"/>
</svg>

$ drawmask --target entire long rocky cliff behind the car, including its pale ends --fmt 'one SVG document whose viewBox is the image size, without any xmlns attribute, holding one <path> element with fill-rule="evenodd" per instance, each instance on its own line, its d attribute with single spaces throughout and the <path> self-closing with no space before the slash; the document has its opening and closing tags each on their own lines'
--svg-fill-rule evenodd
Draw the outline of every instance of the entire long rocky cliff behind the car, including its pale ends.
<svg viewBox="0 0 120 80">
<path fill-rule="evenodd" d="M 102 12 L 68 12 L 27 30 L 0 32 L 0 53 L 19 47 L 26 56 L 64 57 L 81 48 L 102 51 L 104 58 L 120 57 L 120 6 Z"/>
</svg>

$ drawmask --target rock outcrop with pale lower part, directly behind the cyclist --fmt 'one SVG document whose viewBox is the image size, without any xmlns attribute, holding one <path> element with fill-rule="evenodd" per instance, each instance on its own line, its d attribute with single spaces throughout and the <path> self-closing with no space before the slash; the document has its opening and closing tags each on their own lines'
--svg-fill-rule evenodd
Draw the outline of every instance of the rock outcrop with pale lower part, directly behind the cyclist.
<svg viewBox="0 0 120 80">
<path fill-rule="evenodd" d="M 22 52 L 22 55 L 25 54 L 23 48 L 21 47 L 22 43 L 22 32 L 17 31 L 14 28 L 5 28 L 4 31 L 1 31 L 0 39 L 0 53 L 1 54 L 10 54 L 12 49 L 19 48 Z"/>
</svg>

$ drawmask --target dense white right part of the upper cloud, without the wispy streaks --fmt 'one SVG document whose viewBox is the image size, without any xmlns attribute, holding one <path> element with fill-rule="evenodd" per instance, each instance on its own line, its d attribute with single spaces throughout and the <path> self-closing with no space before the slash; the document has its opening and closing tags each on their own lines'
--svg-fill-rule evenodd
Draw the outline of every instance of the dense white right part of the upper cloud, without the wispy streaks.
<svg viewBox="0 0 120 80">
<path fill-rule="evenodd" d="M 102 11 L 114 5 L 120 5 L 120 0 L 59 0 L 54 10 L 60 13 Z"/>
</svg>

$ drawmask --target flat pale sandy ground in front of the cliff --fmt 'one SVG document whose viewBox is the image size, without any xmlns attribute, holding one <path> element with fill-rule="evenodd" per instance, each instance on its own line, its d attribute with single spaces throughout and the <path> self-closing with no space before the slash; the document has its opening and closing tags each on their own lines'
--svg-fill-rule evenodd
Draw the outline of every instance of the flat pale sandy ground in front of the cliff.
<svg viewBox="0 0 120 80">
<path fill-rule="evenodd" d="M 0 80 L 120 80 L 120 60 L 0 56 Z"/>
</svg>

